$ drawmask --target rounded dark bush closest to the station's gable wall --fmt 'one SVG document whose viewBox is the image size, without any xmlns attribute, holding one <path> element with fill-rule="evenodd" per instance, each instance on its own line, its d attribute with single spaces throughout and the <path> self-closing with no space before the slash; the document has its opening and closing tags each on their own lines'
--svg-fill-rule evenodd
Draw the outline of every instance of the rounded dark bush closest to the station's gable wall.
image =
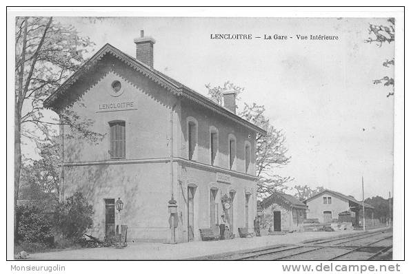
<svg viewBox="0 0 411 274">
<path fill-rule="evenodd" d="M 83 194 L 76 192 L 57 206 L 54 213 L 56 229 L 67 239 L 79 240 L 92 226 L 92 214 L 92 205 Z"/>
</svg>

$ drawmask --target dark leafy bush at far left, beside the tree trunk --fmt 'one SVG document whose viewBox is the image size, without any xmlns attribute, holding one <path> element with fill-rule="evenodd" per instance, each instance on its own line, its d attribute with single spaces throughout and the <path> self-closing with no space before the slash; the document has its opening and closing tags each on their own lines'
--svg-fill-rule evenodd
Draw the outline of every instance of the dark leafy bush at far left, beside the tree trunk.
<svg viewBox="0 0 411 274">
<path fill-rule="evenodd" d="M 19 242 L 37 242 L 51 246 L 50 216 L 34 205 L 17 207 L 17 237 Z"/>
</svg>

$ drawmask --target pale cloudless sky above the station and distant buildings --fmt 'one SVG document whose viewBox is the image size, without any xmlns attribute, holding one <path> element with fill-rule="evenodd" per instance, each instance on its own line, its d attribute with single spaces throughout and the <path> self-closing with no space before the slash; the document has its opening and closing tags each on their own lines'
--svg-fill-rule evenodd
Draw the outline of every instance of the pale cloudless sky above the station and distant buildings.
<svg viewBox="0 0 411 274">
<path fill-rule="evenodd" d="M 372 80 L 392 76 L 382 63 L 394 45 L 364 43 L 368 24 L 361 18 L 190 18 L 59 17 L 79 35 L 135 55 L 140 30 L 152 36 L 154 67 L 207 95 L 206 84 L 230 81 L 244 87 L 239 107 L 264 105 L 287 142 L 290 164 L 274 169 L 294 185 L 325 187 L 361 200 L 388 197 L 393 176 L 394 101 L 392 90 Z M 210 39 L 211 34 L 286 35 L 287 40 Z M 337 41 L 301 41 L 301 35 L 334 35 Z M 293 193 L 293 189 L 288 192 Z"/>
</svg>

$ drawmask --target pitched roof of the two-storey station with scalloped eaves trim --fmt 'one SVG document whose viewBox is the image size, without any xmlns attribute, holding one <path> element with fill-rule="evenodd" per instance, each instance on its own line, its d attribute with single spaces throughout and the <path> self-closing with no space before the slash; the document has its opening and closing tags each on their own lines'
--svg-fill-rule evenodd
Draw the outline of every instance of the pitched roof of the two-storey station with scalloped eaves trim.
<svg viewBox="0 0 411 274">
<path fill-rule="evenodd" d="M 248 127 L 249 129 L 252 129 L 253 131 L 266 135 L 267 131 L 264 129 L 261 129 L 261 127 L 258 127 L 257 125 L 254 125 L 253 123 L 250 123 L 248 120 L 245 120 L 241 118 L 240 116 L 237 116 L 237 114 L 234 114 L 230 112 L 230 110 L 226 109 L 225 107 L 215 103 L 212 101 L 210 98 L 207 98 L 206 96 L 203 96 L 199 94 L 198 92 L 195 92 L 193 89 L 190 89 L 186 85 L 183 85 L 179 83 L 179 81 L 174 80 L 173 78 L 167 76 L 166 74 L 163 74 L 162 72 L 159 72 L 158 70 L 154 70 L 152 67 L 146 65 L 145 63 L 133 58 L 132 56 L 121 52 L 121 50 L 115 48 L 114 46 L 110 44 L 106 44 L 101 48 L 96 54 L 94 54 L 86 63 L 84 63 L 80 69 L 77 72 L 74 72 L 72 76 L 70 76 L 63 84 L 60 85 L 58 89 L 56 89 L 47 99 L 44 101 L 44 106 L 53 110 L 57 110 L 58 108 L 56 107 L 55 103 L 61 98 L 61 95 L 67 92 L 67 90 L 79 80 L 79 78 L 88 72 L 94 65 L 100 61 L 103 56 L 106 54 L 111 54 L 112 56 L 116 57 L 120 61 L 123 61 L 123 63 L 126 63 L 130 67 L 132 67 L 134 70 L 137 70 L 137 72 L 140 72 L 144 76 L 147 76 L 150 78 L 152 81 L 155 83 L 161 85 L 161 87 L 164 87 L 167 89 L 169 92 L 172 94 L 175 94 L 177 96 L 183 96 L 185 98 L 188 98 L 195 103 L 198 103 L 199 105 L 203 105 L 203 107 L 207 107 L 208 109 L 211 109 L 212 111 L 221 114 L 225 116 L 226 118 L 230 118 L 231 120 L 234 120 L 237 123 L 240 123 L 241 125 Z"/>
</svg>

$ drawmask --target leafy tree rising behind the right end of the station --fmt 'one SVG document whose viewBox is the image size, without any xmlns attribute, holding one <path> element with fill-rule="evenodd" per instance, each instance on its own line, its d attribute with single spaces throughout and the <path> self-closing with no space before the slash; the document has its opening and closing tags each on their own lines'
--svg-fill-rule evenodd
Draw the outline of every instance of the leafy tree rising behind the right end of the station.
<svg viewBox="0 0 411 274">
<path fill-rule="evenodd" d="M 223 92 L 234 90 L 238 95 L 243 92 L 244 88 L 239 87 L 227 81 L 223 87 L 210 87 L 210 84 L 206 85 L 208 89 L 208 95 L 215 102 L 222 104 Z M 290 182 L 292 178 L 282 177 L 274 173 L 273 168 L 279 168 L 283 165 L 287 165 L 290 162 L 290 157 L 286 156 L 288 149 L 285 147 L 285 135 L 283 131 L 275 129 L 270 120 L 265 116 L 265 107 L 263 105 L 244 104 L 243 110 L 239 112 L 239 116 L 248 120 L 249 122 L 257 125 L 267 131 L 267 136 L 257 134 L 257 193 L 260 198 L 269 196 L 275 191 L 282 192 L 287 189 L 285 185 Z"/>
</svg>

